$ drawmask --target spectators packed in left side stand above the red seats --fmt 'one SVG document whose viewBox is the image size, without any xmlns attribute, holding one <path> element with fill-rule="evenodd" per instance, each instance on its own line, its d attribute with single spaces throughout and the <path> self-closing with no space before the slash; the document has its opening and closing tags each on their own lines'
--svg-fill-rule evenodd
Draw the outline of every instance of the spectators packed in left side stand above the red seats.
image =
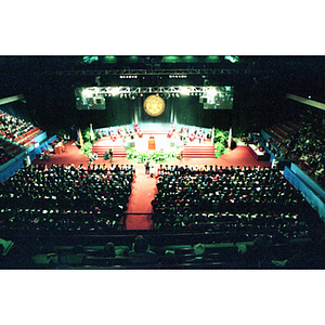
<svg viewBox="0 0 325 325">
<path fill-rule="evenodd" d="M 32 129 L 35 126 L 31 122 L 0 110 L 0 135 L 15 141 Z"/>
</svg>

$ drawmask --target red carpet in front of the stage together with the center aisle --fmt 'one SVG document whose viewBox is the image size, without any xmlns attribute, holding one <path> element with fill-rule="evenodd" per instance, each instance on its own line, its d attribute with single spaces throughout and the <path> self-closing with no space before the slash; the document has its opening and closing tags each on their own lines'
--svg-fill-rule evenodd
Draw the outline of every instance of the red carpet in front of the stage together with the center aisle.
<svg viewBox="0 0 325 325">
<path fill-rule="evenodd" d="M 61 155 L 53 155 L 49 161 L 35 159 L 32 164 L 74 164 L 75 166 L 79 166 L 83 164 L 88 166 L 88 158 L 79 154 L 79 150 L 77 146 L 73 145 L 72 142 L 66 144 L 66 152 L 62 153 Z M 131 161 L 127 160 L 126 158 L 117 158 L 115 157 L 113 160 L 114 164 L 119 165 L 127 165 L 132 164 Z M 104 160 L 104 158 L 100 157 L 96 165 L 110 165 L 109 160 Z M 219 167 L 225 166 L 271 166 L 270 161 L 258 161 L 253 158 L 250 154 L 249 150 L 246 146 L 237 146 L 235 150 L 231 151 L 227 155 L 223 155 L 220 158 L 183 158 L 182 160 L 174 161 L 173 165 L 187 165 L 191 166 L 214 166 L 218 165 Z M 156 170 L 159 166 L 156 166 Z M 129 198 L 128 210 L 127 212 L 127 221 L 126 227 L 127 230 L 151 230 L 153 227 L 153 223 L 151 220 L 151 214 L 153 209 L 151 202 L 156 194 L 156 179 L 151 178 L 150 176 L 144 173 L 144 166 L 140 164 L 134 164 L 134 168 L 136 170 L 136 178 L 132 184 L 132 194 Z M 136 213 L 136 214 L 132 214 Z M 139 213 L 139 214 L 138 214 Z"/>
</svg>

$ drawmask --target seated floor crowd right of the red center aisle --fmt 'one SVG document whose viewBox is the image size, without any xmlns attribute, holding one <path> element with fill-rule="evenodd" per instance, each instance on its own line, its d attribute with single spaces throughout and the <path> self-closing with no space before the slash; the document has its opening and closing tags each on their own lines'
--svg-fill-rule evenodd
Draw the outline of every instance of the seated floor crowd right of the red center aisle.
<svg viewBox="0 0 325 325">
<path fill-rule="evenodd" d="M 318 220 L 302 195 L 271 168 L 160 166 L 152 202 L 156 229 L 304 236 Z M 249 238 L 250 237 L 250 238 Z M 243 239 L 243 238 L 242 238 Z"/>
</svg>

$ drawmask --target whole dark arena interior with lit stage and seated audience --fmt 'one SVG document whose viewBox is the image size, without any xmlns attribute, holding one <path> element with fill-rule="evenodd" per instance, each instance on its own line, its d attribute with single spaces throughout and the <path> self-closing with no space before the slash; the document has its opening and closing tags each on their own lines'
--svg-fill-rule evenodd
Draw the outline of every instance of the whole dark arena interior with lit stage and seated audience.
<svg viewBox="0 0 325 325">
<path fill-rule="evenodd" d="M 325 269 L 323 56 L 0 72 L 0 269 Z"/>
</svg>

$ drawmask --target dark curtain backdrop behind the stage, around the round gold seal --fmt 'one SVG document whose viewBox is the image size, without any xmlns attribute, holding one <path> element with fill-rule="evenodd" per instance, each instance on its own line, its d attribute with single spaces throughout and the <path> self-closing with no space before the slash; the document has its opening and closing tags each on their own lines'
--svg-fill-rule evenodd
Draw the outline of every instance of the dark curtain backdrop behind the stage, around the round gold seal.
<svg viewBox="0 0 325 325">
<path fill-rule="evenodd" d="M 143 108 L 147 96 L 139 96 L 135 100 L 112 96 L 105 99 L 106 109 L 76 109 L 79 125 L 87 127 L 92 122 L 95 129 L 133 123 L 178 123 L 205 128 L 230 128 L 233 110 L 204 109 L 204 104 L 199 103 L 198 96 L 180 95 L 180 98 L 164 99 L 165 110 L 156 117 L 150 116 Z"/>
</svg>

